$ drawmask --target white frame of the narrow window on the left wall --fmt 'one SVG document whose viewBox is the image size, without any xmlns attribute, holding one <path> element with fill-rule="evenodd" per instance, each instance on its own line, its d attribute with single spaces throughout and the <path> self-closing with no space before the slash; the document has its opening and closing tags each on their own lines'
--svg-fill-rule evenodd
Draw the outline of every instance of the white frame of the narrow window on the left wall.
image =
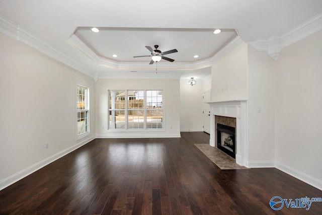
<svg viewBox="0 0 322 215">
<path fill-rule="evenodd" d="M 78 98 L 79 98 L 78 96 L 80 95 L 79 88 L 85 89 L 85 95 L 82 94 L 82 96 L 85 96 L 85 99 L 84 99 L 85 100 L 84 101 L 85 108 L 84 109 L 79 109 L 79 106 L 78 106 L 78 104 L 80 103 L 78 100 Z M 78 134 L 78 120 L 82 119 L 82 117 L 78 118 L 79 112 L 85 112 L 86 117 L 84 117 L 84 119 L 85 119 L 85 123 L 87 125 L 87 130 L 84 131 L 83 133 Z M 85 127 L 85 129 L 86 129 L 86 127 Z M 88 135 L 90 135 L 90 88 L 78 84 L 77 85 L 77 92 L 76 92 L 76 139 L 81 139 L 81 138 L 88 136 Z"/>
</svg>

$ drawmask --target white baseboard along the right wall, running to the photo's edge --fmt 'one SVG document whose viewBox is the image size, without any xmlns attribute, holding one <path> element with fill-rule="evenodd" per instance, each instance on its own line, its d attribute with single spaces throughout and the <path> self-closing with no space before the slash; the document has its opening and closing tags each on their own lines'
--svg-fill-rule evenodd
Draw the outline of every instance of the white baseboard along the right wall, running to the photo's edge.
<svg viewBox="0 0 322 215">
<path fill-rule="evenodd" d="M 314 178 L 312 176 L 309 176 L 305 173 L 302 173 L 298 170 L 293 169 L 292 167 L 286 166 L 280 162 L 275 162 L 275 168 L 279 169 L 309 185 L 312 185 L 313 187 L 316 187 L 319 190 L 322 190 L 322 181 Z"/>
</svg>

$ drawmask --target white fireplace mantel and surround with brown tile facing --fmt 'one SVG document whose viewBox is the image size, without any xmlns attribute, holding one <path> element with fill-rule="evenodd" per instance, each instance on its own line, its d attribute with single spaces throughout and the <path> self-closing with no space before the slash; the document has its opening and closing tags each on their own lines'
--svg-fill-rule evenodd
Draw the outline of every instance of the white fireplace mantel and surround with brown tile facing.
<svg viewBox="0 0 322 215">
<path fill-rule="evenodd" d="M 246 166 L 248 163 L 247 100 L 209 102 L 208 104 L 210 105 L 210 146 L 218 148 L 217 123 L 234 127 L 234 142 L 231 139 L 233 138 L 232 131 L 224 132 L 226 133 L 224 135 L 230 135 L 230 137 L 224 137 L 224 139 L 227 138 L 225 147 L 234 147 L 235 149 L 232 149 L 231 154 L 235 155 L 236 163 L 240 166 Z M 234 143 L 233 147 L 230 146 L 232 143 Z"/>
</svg>

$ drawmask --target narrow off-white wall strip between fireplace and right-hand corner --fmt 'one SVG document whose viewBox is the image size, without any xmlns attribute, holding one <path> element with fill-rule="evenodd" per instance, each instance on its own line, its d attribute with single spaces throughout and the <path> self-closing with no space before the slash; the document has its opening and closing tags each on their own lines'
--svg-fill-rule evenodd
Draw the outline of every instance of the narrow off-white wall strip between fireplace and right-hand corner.
<svg viewBox="0 0 322 215">
<path fill-rule="evenodd" d="M 248 148 L 250 167 L 274 167 L 275 73 L 267 52 L 248 44 Z"/>
</svg>

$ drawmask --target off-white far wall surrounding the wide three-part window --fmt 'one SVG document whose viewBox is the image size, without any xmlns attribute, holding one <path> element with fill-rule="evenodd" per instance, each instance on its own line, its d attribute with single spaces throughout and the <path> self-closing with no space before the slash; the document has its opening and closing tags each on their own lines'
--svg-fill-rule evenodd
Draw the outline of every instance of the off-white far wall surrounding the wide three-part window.
<svg viewBox="0 0 322 215">
<path fill-rule="evenodd" d="M 108 90 L 163 90 L 165 131 L 107 130 Z M 180 84 L 178 80 L 105 79 L 96 83 L 97 137 L 180 137 Z M 172 128 L 171 128 L 172 127 Z"/>
</svg>

